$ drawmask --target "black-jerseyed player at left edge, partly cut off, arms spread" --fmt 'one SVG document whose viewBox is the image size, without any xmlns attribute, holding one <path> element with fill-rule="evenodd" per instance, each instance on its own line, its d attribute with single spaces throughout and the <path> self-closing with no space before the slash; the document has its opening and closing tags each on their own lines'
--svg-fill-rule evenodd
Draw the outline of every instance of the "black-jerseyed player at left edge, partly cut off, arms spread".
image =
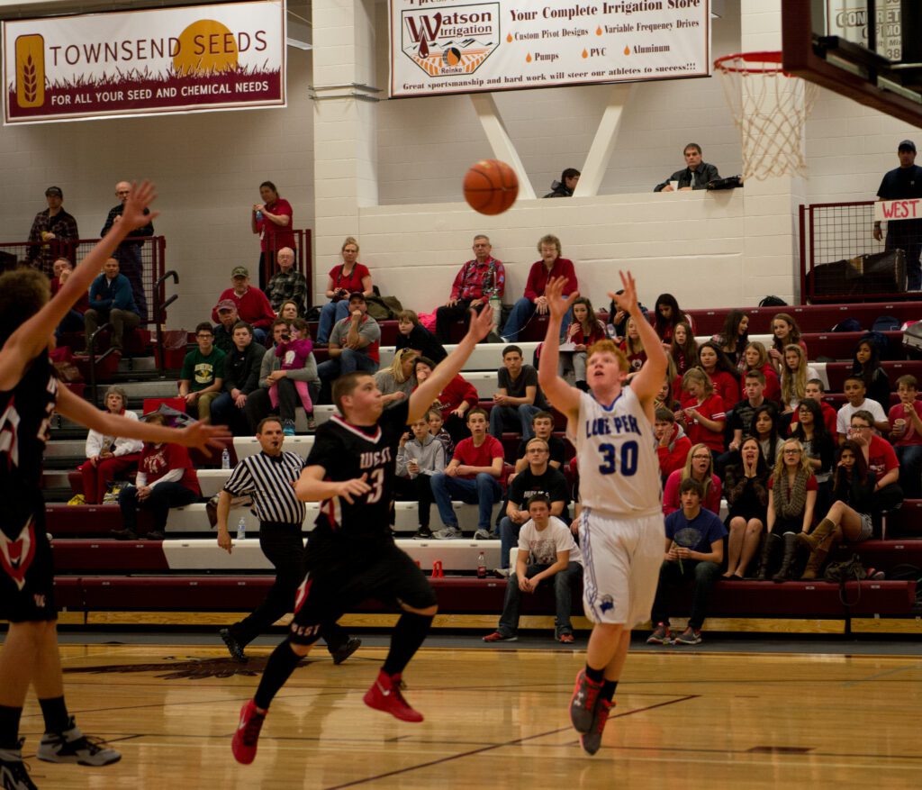
<svg viewBox="0 0 922 790">
<path fill-rule="evenodd" d="M 9 621 L 0 651 L 0 787 L 35 787 L 22 762 L 19 717 L 30 685 L 45 721 L 39 760 L 108 765 L 121 759 L 113 748 L 84 736 L 67 712 L 57 649 L 52 548 L 44 524 L 41 457 L 52 414 L 106 436 L 171 441 L 207 449 L 229 436 L 223 427 L 196 423 L 177 431 L 101 412 L 58 387 L 48 359 L 53 332 L 86 293 L 102 264 L 129 231 L 153 220 L 145 215 L 152 185 L 133 188 L 122 219 L 89 252 L 49 301 L 48 278 L 35 269 L 0 276 L 0 618 Z"/>
</svg>

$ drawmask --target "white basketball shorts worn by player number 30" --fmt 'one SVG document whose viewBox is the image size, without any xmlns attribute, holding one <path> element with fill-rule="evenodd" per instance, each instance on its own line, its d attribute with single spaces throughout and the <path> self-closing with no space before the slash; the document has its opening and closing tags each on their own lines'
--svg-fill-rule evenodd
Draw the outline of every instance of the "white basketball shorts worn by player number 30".
<svg viewBox="0 0 922 790">
<path fill-rule="evenodd" d="M 649 620 L 666 551 L 663 514 L 616 519 L 584 508 L 579 545 L 585 616 L 627 628 Z"/>
</svg>

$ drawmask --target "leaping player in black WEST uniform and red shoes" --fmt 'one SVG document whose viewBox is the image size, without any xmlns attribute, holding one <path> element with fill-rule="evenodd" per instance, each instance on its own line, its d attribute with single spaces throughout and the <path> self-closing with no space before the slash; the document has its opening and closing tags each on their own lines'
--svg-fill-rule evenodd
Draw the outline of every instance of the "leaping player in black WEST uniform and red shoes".
<svg viewBox="0 0 922 790">
<path fill-rule="evenodd" d="M 471 313 L 464 340 L 393 409 L 384 412 L 381 390 L 368 374 L 351 373 L 333 385 L 343 417 L 334 416 L 317 429 L 296 486 L 299 498 L 321 503 L 304 557 L 307 575 L 298 589 L 288 638 L 269 657 L 254 699 L 243 705 L 232 742 L 238 762 L 253 762 L 269 703 L 311 650 L 321 623 L 337 620 L 370 597 L 399 607 L 401 615 L 365 704 L 405 722 L 422 721 L 401 693 L 401 675 L 429 632 L 437 609 L 435 593 L 394 543 L 388 508 L 400 437 L 426 413 L 492 328 L 489 306 L 479 315 Z"/>
</svg>

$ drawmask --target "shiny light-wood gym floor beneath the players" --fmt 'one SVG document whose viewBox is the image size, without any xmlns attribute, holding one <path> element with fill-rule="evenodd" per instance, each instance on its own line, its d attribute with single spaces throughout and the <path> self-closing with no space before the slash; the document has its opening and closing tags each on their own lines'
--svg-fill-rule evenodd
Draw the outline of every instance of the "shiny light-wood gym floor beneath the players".
<svg viewBox="0 0 922 790">
<path fill-rule="evenodd" d="M 334 666 L 320 647 L 280 692 L 244 767 L 231 735 L 270 648 L 251 650 L 242 666 L 223 647 L 64 644 L 71 711 L 124 758 L 97 769 L 27 757 L 33 780 L 132 790 L 922 785 L 917 656 L 635 647 L 590 758 L 567 717 L 580 650 L 423 649 L 407 697 L 426 721 L 405 724 L 361 701 L 382 648 Z M 41 730 L 30 693 L 27 756 Z"/>
</svg>

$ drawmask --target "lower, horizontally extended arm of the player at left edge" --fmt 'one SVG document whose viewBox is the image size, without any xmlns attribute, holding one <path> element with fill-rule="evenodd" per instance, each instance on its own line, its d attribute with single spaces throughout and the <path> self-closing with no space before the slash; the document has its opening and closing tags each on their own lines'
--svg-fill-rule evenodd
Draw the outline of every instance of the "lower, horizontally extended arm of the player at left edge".
<svg viewBox="0 0 922 790">
<path fill-rule="evenodd" d="M 94 409 L 87 401 L 78 398 L 69 389 L 58 389 L 57 411 L 80 425 L 86 425 L 108 437 L 141 439 L 146 442 L 170 442 L 171 444 L 194 447 L 211 455 L 211 448 L 222 448 L 231 438 L 226 425 L 193 423 L 184 428 L 166 425 L 150 425 L 140 420 L 129 420 L 120 414 L 111 414 Z"/>
</svg>

